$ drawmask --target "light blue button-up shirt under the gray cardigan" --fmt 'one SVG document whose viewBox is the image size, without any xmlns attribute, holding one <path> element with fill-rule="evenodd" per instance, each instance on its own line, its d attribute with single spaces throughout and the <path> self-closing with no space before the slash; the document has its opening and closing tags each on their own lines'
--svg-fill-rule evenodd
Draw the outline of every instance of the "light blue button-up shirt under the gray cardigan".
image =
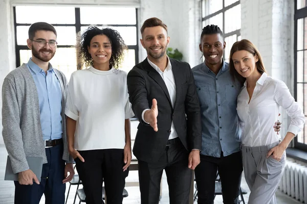
<svg viewBox="0 0 307 204">
<path fill-rule="evenodd" d="M 60 139 L 63 132 L 62 93 L 59 80 L 51 64 L 47 74 L 32 61 L 32 58 L 27 65 L 37 89 L 43 140 Z"/>
</svg>

